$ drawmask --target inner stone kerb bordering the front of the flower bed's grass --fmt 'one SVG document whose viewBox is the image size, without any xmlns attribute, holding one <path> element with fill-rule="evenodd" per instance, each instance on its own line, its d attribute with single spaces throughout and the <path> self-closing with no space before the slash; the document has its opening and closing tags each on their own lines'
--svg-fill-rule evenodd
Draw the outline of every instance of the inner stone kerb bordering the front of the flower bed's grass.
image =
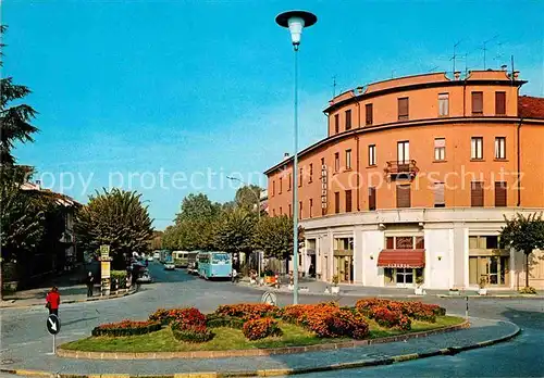
<svg viewBox="0 0 544 378">
<path fill-rule="evenodd" d="M 57 349 L 59 357 L 74 358 L 74 360 L 172 360 L 172 358 L 227 358 L 227 357 L 254 357 L 254 356 L 269 356 L 277 354 L 300 354 L 307 352 L 323 352 L 333 351 L 346 348 L 357 348 L 372 344 L 382 344 L 387 342 L 405 341 L 410 339 L 418 339 L 431 335 L 440 335 L 456 331 L 459 329 L 469 328 L 470 323 L 465 320 L 460 324 L 430 329 L 421 332 L 411 332 L 398 336 L 390 336 L 379 339 L 354 340 L 347 342 L 335 342 L 326 344 L 314 344 L 306 346 L 288 346 L 288 348 L 270 348 L 270 349 L 245 349 L 232 351 L 193 351 L 193 352 L 143 352 L 143 353 L 127 353 L 127 352 L 82 352 L 62 349 L 62 345 Z"/>
</svg>

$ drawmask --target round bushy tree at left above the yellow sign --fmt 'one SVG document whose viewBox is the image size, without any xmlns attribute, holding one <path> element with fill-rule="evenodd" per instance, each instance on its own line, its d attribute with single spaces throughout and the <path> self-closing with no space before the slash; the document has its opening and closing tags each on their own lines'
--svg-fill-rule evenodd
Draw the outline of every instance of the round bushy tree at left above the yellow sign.
<svg viewBox="0 0 544 378">
<path fill-rule="evenodd" d="M 81 209 L 76 219 L 77 240 L 84 249 L 97 252 L 110 245 L 114 269 L 124 269 L 133 252 L 146 252 L 152 235 L 148 206 L 135 191 L 112 189 L 96 192 Z"/>
</svg>

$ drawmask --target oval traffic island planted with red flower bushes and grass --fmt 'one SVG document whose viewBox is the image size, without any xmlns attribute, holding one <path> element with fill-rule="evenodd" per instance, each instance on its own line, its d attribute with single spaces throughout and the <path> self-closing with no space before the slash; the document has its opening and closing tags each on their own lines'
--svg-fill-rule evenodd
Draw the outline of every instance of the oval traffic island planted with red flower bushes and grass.
<svg viewBox="0 0 544 378">
<path fill-rule="evenodd" d="M 60 346 L 59 356 L 90 360 L 164 360 L 263 356 L 337 350 L 422 338 L 468 327 L 437 305 L 361 300 L 334 303 L 159 310 L 147 322 L 102 325 L 92 336 Z"/>
</svg>

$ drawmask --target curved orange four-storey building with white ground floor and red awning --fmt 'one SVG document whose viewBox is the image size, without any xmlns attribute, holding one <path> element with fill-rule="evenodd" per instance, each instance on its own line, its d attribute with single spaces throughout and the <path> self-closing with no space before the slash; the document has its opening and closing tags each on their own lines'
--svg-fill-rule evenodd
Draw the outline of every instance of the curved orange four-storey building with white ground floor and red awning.
<svg viewBox="0 0 544 378">
<path fill-rule="evenodd" d="M 524 286 L 504 216 L 544 210 L 544 99 L 519 73 L 433 73 L 348 90 L 324 110 L 327 137 L 269 168 L 271 216 L 305 228 L 300 269 L 318 279 L 431 289 Z M 531 285 L 544 288 L 535 259 Z"/>
</svg>

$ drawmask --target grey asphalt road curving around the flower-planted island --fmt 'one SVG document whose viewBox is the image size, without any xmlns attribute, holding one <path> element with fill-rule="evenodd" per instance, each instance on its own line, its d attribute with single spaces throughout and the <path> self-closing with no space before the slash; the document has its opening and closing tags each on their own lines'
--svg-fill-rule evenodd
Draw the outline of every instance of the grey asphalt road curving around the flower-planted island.
<svg viewBox="0 0 544 378">
<path fill-rule="evenodd" d="M 110 301 L 61 305 L 62 329 L 58 342 L 88 336 L 92 327 L 124 318 L 145 319 L 158 307 L 197 306 L 212 312 L 220 304 L 259 302 L 261 291 L 235 286 L 228 281 L 206 281 L 187 275 L 185 270 L 164 270 L 161 264 L 150 263 L 154 279 L 143 285 L 140 292 Z M 277 294 L 279 304 L 292 302 L 286 293 Z M 302 303 L 330 301 L 331 297 L 300 295 Z M 342 298 L 342 304 L 354 304 L 357 298 Z M 425 298 L 438 303 L 448 313 L 463 314 L 462 299 Z M 342 371 L 343 377 L 361 376 L 425 376 L 425 377 L 542 377 L 544 376 L 544 301 L 478 299 L 469 303 L 470 315 L 506 319 L 522 328 L 521 336 L 512 341 L 454 356 L 441 356 L 398 365 Z M 0 311 L 0 366 L 26 360 L 47 361 L 52 352 L 52 338 L 46 330 L 46 308 L 40 306 Z M 47 364 L 44 366 L 47 369 Z M 338 371 L 313 374 L 316 377 L 337 377 Z"/>
</svg>

